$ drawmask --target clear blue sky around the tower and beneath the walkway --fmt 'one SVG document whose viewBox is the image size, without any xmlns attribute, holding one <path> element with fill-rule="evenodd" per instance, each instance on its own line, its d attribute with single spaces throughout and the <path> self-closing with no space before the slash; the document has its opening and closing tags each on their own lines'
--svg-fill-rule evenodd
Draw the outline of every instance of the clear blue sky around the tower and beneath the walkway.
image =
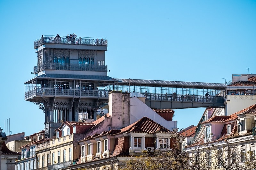
<svg viewBox="0 0 256 170">
<path fill-rule="evenodd" d="M 0 126 L 10 118 L 12 134 L 44 129 L 42 110 L 24 100 L 41 35 L 107 38 L 113 78 L 224 83 L 247 68 L 256 74 L 256 1 L 2 0 L 0 16 Z M 174 120 L 196 125 L 203 111 L 175 110 Z"/>
</svg>

